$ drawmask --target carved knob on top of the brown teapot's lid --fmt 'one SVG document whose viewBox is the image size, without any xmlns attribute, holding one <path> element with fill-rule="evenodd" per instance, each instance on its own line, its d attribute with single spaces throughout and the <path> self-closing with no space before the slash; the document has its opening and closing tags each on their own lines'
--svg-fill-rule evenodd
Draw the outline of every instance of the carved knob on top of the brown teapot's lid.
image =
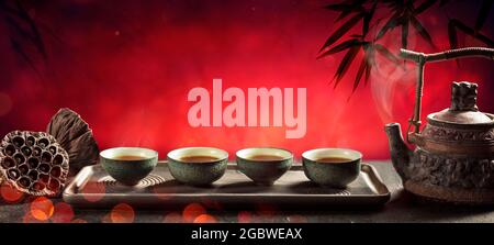
<svg viewBox="0 0 494 245">
<path fill-rule="evenodd" d="M 451 88 L 450 111 L 479 111 L 476 107 L 476 87 L 474 82 L 453 82 Z"/>
</svg>

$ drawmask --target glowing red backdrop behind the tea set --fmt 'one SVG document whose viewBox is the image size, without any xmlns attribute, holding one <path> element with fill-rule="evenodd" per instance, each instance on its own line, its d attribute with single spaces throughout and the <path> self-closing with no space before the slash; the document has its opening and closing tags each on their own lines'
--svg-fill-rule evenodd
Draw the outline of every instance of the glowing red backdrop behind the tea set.
<svg viewBox="0 0 494 245">
<path fill-rule="evenodd" d="M 97 1 L 27 4 L 40 23 L 46 59 L 33 69 L 0 24 L 0 134 L 44 131 L 59 108 L 79 112 L 101 148 L 147 146 L 161 157 L 172 148 L 207 145 L 232 154 L 269 145 L 299 154 L 319 146 L 352 147 L 366 158 L 388 158 L 383 125 L 412 115 L 414 76 L 378 60 L 372 81 L 348 100 L 355 67 L 336 90 L 328 82 L 340 57 L 317 60 L 338 26 L 325 0 Z M 474 22 L 480 4 L 463 1 L 448 14 Z M 438 49 L 449 48 L 445 10 L 420 15 Z M 494 36 L 494 14 L 485 35 Z M 375 30 L 374 30 L 375 31 Z M 396 51 L 396 29 L 383 43 Z M 462 46 L 481 45 L 459 37 Z M 433 52 L 411 31 L 409 48 Z M 361 54 L 359 54 L 361 56 Z M 480 83 L 479 107 L 494 112 L 494 64 L 468 59 L 426 68 L 424 115 L 449 105 L 450 82 Z M 37 71 L 36 71 L 37 70 Z M 287 140 L 283 127 L 192 127 L 187 94 L 193 87 L 306 88 L 307 132 Z"/>
</svg>

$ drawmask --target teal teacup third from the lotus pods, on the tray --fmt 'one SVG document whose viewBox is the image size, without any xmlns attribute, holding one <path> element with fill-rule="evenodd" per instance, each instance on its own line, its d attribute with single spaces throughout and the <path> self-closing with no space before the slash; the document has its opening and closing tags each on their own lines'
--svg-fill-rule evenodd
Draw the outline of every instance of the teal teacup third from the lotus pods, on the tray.
<svg viewBox="0 0 494 245">
<path fill-rule="evenodd" d="M 238 169 L 261 186 L 273 185 L 293 163 L 293 154 L 282 148 L 245 148 L 236 155 Z"/>
</svg>

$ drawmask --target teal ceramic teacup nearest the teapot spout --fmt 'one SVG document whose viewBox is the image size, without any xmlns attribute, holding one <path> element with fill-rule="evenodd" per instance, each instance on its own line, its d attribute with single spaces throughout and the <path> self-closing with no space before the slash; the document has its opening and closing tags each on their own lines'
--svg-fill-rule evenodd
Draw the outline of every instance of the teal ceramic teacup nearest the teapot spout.
<svg viewBox="0 0 494 245">
<path fill-rule="evenodd" d="M 346 188 L 360 172 L 362 154 L 346 148 L 317 148 L 302 154 L 305 176 L 321 186 Z"/>
</svg>

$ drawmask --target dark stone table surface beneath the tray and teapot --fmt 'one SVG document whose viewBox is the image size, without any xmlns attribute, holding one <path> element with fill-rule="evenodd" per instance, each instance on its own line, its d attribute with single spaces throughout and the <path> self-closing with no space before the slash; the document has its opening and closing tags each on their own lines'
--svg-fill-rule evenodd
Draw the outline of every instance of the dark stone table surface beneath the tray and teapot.
<svg viewBox="0 0 494 245">
<path fill-rule="evenodd" d="M 494 208 L 454 207 L 439 203 L 417 201 L 412 194 L 403 191 L 401 180 L 390 162 L 371 162 L 384 183 L 392 192 L 390 202 L 380 209 L 362 210 L 318 210 L 318 211 L 283 211 L 279 208 L 245 211 L 206 210 L 218 222 L 494 222 Z M 119 220 L 119 213 L 111 215 L 110 210 L 74 209 L 64 211 L 61 200 L 53 199 L 55 212 L 47 222 L 112 222 Z M 58 208 L 61 207 L 61 208 Z M 0 204 L 0 222 L 37 222 L 33 219 L 29 202 Z M 65 209 L 66 210 L 66 209 Z M 134 210 L 120 221 L 133 222 L 181 222 L 181 210 Z M 35 215 L 36 216 L 36 215 Z M 130 220 L 128 220 L 130 219 Z"/>
</svg>

